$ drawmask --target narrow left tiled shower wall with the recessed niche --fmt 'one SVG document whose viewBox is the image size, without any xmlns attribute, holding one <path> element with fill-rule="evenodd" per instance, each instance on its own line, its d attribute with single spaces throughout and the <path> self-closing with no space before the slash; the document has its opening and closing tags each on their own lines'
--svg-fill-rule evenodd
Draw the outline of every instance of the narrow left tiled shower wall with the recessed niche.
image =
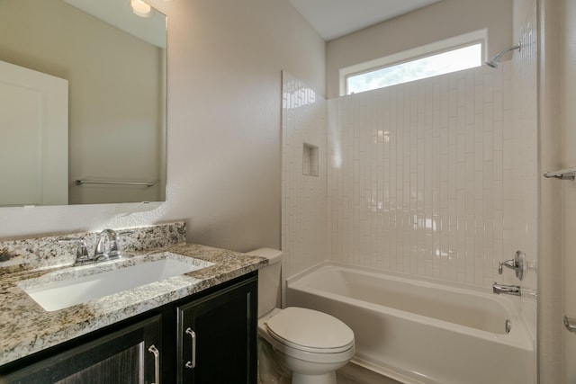
<svg viewBox="0 0 576 384">
<path fill-rule="evenodd" d="M 282 129 L 283 271 L 289 277 L 327 257 L 327 124 L 326 101 L 286 72 Z M 313 173 L 302 172 L 305 159 Z"/>
</svg>

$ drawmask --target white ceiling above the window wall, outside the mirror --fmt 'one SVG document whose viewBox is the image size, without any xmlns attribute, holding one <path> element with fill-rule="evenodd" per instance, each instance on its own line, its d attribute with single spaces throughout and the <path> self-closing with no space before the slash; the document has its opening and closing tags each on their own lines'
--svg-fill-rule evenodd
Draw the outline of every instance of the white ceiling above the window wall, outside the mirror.
<svg viewBox="0 0 576 384">
<path fill-rule="evenodd" d="M 333 40 L 440 0 L 290 0 L 324 40 Z"/>
</svg>

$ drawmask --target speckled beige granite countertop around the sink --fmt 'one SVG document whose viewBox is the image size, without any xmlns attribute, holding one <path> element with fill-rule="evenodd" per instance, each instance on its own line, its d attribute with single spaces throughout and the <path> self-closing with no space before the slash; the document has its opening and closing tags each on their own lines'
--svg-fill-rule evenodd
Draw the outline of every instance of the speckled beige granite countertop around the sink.
<svg viewBox="0 0 576 384">
<path fill-rule="evenodd" d="M 267 263 L 266 259 L 257 256 L 185 244 L 182 243 L 182 237 L 178 237 L 175 243 L 177 244 L 149 246 L 139 251 L 134 250 L 137 247 L 129 247 L 125 259 L 136 260 L 136 255 L 158 257 L 158 253 L 169 251 L 214 264 L 198 271 L 52 312 L 41 308 L 19 284 L 30 279 L 41 279 L 48 273 L 61 273 L 66 268 L 69 269 L 70 263 L 60 263 L 53 267 L 50 267 L 49 263 L 38 263 L 37 268 L 32 268 L 30 263 L 10 263 L 6 256 L 8 251 L 0 243 L 0 256 L 4 256 L 4 259 L 0 259 L 4 262 L 4 267 L 0 268 L 0 365 L 256 271 Z"/>
</svg>

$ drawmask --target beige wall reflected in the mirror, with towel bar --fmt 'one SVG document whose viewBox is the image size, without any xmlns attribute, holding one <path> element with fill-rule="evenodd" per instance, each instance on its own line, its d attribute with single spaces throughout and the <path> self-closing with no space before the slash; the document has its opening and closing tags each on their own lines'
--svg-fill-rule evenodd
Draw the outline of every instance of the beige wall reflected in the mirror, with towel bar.
<svg viewBox="0 0 576 384">
<path fill-rule="evenodd" d="M 162 59 L 162 49 L 63 1 L 0 2 L 0 60 L 68 81 L 70 181 L 161 178 Z M 68 197 L 81 204 L 164 194 L 159 184 L 71 185 Z"/>
</svg>

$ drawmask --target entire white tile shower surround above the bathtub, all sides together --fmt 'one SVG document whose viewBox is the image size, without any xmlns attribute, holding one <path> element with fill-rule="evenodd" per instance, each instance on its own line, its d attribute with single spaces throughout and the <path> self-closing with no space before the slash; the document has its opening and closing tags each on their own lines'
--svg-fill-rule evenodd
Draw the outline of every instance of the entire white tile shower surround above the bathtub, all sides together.
<svg viewBox="0 0 576 384">
<path fill-rule="evenodd" d="M 328 259 L 490 289 L 518 284 L 498 263 L 521 249 L 536 291 L 532 16 L 527 49 L 496 70 L 328 103 L 284 74 L 284 278 Z M 318 176 L 303 172 L 312 147 Z"/>
</svg>

